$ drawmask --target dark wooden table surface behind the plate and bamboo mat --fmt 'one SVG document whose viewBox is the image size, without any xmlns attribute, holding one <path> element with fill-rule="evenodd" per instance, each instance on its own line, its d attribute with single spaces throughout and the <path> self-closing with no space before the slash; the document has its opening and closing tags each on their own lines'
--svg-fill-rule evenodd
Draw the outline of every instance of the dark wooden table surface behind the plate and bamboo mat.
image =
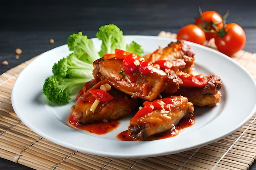
<svg viewBox="0 0 256 170">
<path fill-rule="evenodd" d="M 66 44 L 67 37 L 82 31 L 94 38 L 99 27 L 116 24 L 124 35 L 157 35 L 177 31 L 194 22 L 202 11 L 214 10 L 227 22 L 243 27 L 245 51 L 256 53 L 256 1 L 254 0 L 97 0 L 4 1 L 0 0 L 0 74 L 32 57 Z M 54 44 L 49 39 L 54 39 Z M 15 49 L 22 49 L 17 60 Z M 7 60 L 9 65 L 2 65 Z M 0 169 L 30 170 L 0 158 Z M 256 170 L 256 164 L 250 170 Z"/>
</svg>

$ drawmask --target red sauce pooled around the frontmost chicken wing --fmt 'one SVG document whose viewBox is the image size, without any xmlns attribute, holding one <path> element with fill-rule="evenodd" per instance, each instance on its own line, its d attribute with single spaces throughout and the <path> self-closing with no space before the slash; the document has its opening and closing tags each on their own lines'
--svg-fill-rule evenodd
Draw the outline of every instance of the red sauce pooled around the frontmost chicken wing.
<svg viewBox="0 0 256 170">
<path fill-rule="evenodd" d="M 186 119 L 180 120 L 180 122 L 171 130 L 167 130 L 162 133 L 158 133 L 153 135 L 147 139 L 147 141 L 158 140 L 158 139 L 166 139 L 169 137 L 175 137 L 179 134 L 179 131 L 192 126 L 195 123 L 195 119 L 193 117 L 188 117 Z M 128 130 L 125 130 L 117 135 L 117 139 L 122 141 L 136 141 L 133 137 L 128 135 Z"/>
</svg>

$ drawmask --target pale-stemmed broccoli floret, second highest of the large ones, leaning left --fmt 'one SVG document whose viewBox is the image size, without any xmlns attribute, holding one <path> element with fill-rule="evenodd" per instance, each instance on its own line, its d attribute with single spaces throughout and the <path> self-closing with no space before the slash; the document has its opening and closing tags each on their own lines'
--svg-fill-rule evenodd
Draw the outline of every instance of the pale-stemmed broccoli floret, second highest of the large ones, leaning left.
<svg viewBox="0 0 256 170">
<path fill-rule="evenodd" d="M 67 46 L 70 51 L 74 51 L 79 56 L 79 59 L 84 62 L 92 64 L 100 58 L 92 40 L 87 35 L 83 35 L 82 32 L 71 34 L 67 38 Z"/>
</svg>

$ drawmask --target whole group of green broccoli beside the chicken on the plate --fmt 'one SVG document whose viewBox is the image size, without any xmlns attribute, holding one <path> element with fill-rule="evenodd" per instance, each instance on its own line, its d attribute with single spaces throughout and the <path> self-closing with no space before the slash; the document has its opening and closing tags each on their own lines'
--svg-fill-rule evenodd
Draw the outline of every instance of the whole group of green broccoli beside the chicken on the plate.
<svg viewBox="0 0 256 170">
<path fill-rule="evenodd" d="M 73 33 L 67 38 L 67 46 L 72 52 L 52 66 L 53 75 L 45 79 L 43 95 L 55 104 L 64 105 L 75 97 L 83 85 L 93 79 L 93 62 L 115 49 L 126 50 L 142 55 L 144 50 L 136 42 L 127 44 L 116 25 L 101 26 L 96 34 L 102 41 L 101 51 L 97 51 L 91 39 L 82 32 Z"/>
</svg>

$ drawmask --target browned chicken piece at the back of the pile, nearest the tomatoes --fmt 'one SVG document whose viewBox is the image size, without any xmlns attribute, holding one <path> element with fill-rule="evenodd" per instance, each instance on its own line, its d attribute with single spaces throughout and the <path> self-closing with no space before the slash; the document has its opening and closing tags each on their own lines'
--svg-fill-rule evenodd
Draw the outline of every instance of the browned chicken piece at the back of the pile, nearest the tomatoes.
<svg viewBox="0 0 256 170">
<path fill-rule="evenodd" d="M 146 54 L 143 57 L 151 63 L 155 63 L 159 60 L 173 61 L 182 59 L 186 65 L 180 71 L 191 74 L 193 72 L 195 60 L 194 55 L 195 53 L 191 51 L 189 45 L 185 44 L 182 40 L 177 40 L 177 42 L 171 42 L 164 48 L 159 46 L 153 53 Z"/>
</svg>

